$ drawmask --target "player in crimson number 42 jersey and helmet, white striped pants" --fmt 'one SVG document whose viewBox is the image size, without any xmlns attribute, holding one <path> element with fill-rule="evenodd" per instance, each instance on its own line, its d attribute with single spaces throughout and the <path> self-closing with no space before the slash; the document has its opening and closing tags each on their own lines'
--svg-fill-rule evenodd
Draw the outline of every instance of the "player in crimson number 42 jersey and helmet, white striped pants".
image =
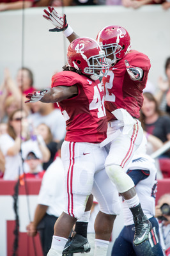
<svg viewBox="0 0 170 256">
<path fill-rule="evenodd" d="M 68 66 L 63 67 L 63 72 L 52 77 L 52 88 L 26 96 L 26 102 L 58 102 L 66 120 L 66 137 L 61 148 L 65 209 L 54 225 L 52 246 L 47 255 L 62 255 L 72 227 L 84 214 L 92 193 L 100 205 L 95 227 L 95 256 L 104 256 L 114 219 L 120 213 L 118 191 L 105 173 L 107 152 L 100 147 L 107 136 L 107 118 L 98 78 L 107 74 L 109 64 L 100 45 L 91 38 L 73 40 L 67 60 Z M 87 239 L 84 241 L 88 252 L 89 244 Z M 98 246 L 101 243 L 104 244 L 102 251 Z"/>
</svg>

